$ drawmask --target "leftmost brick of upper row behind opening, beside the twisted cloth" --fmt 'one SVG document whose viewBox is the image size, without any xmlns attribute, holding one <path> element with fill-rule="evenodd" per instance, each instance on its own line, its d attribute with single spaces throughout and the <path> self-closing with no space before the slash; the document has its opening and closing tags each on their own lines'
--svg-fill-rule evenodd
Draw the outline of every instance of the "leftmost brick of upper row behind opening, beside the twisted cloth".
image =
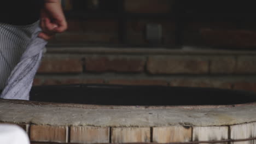
<svg viewBox="0 0 256 144">
<path fill-rule="evenodd" d="M 79 58 L 45 58 L 38 73 L 82 73 L 83 64 Z"/>
</svg>

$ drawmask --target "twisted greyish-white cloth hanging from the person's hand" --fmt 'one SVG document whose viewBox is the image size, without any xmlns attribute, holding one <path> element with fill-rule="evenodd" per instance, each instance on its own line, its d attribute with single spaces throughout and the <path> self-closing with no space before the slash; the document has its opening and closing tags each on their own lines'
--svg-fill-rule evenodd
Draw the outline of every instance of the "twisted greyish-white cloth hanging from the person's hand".
<svg viewBox="0 0 256 144">
<path fill-rule="evenodd" d="M 30 99 L 29 94 L 32 87 L 33 78 L 42 59 L 43 49 L 47 44 L 45 40 L 38 37 L 38 34 L 41 31 L 39 22 L 34 23 L 32 27 L 33 28 L 31 33 L 29 33 L 29 31 L 21 31 L 25 32 L 26 35 L 29 35 L 30 38 L 26 39 L 27 43 L 25 43 L 26 41 L 21 43 L 21 45 L 25 44 L 24 52 L 22 53 L 18 64 L 16 64 L 15 67 L 11 70 L 0 98 L 20 100 Z M 19 27 L 15 28 L 19 29 Z M 9 34 L 14 34 L 18 37 L 20 36 L 19 34 L 16 34 L 15 31 L 9 31 Z M 13 43 L 15 43 L 15 41 Z M 15 47 L 12 47 L 11 49 L 14 49 L 15 51 Z"/>
</svg>

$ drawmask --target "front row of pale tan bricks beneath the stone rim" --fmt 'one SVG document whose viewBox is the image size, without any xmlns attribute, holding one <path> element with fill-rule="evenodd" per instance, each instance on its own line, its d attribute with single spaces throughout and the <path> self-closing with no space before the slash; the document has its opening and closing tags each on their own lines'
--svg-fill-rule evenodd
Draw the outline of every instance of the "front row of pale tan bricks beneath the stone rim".
<svg viewBox="0 0 256 144">
<path fill-rule="evenodd" d="M 171 143 L 246 140 L 255 137 L 255 123 L 223 127 L 88 127 L 20 124 L 32 144 L 39 143 Z M 246 135 L 241 135 L 241 131 Z M 203 133 L 203 135 L 202 135 Z M 231 136 L 231 137 L 230 137 Z M 226 143 L 226 142 L 221 142 Z"/>
</svg>

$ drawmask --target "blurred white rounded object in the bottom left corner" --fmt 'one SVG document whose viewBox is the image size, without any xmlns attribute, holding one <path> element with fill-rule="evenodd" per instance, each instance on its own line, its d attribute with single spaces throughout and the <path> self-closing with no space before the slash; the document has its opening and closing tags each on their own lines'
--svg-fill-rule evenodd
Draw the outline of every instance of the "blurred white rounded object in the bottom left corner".
<svg viewBox="0 0 256 144">
<path fill-rule="evenodd" d="M 17 125 L 0 124 L 1 144 L 30 144 L 27 133 Z"/>
</svg>

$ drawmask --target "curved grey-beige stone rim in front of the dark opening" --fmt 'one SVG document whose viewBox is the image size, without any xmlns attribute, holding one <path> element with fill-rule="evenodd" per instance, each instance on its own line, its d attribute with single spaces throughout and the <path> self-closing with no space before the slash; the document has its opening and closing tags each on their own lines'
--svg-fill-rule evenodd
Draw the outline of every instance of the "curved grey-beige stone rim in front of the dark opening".
<svg viewBox="0 0 256 144">
<path fill-rule="evenodd" d="M 220 126 L 256 121 L 256 104 L 245 106 L 147 107 L 45 105 L 0 100 L 0 122 L 96 127 Z M 26 104 L 27 103 L 27 104 Z M 85 107 L 85 108 L 83 108 Z M 86 109 L 86 107 L 88 107 Z"/>
</svg>

